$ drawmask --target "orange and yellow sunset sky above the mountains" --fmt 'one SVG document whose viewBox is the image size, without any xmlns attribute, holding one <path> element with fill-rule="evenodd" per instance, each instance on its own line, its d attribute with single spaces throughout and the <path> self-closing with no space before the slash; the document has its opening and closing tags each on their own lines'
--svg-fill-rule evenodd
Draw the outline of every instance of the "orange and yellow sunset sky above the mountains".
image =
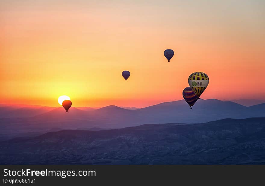
<svg viewBox="0 0 265 186">
<path fill-rule="evenodd" d="M 264 99 L 264 48 L 261 0 L 1 0 L 0 103 L 146 107 L 183 99 L 193 72 L 202 99 Z"/>
</svg>

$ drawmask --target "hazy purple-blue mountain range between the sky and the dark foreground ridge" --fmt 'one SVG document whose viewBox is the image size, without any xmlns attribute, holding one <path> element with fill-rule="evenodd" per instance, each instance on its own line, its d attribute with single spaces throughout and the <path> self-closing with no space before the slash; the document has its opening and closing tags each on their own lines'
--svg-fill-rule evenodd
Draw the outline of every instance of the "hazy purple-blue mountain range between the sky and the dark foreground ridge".
<svg viewBox="0 0 265 186">
<path fill-rule="evenodd" d="M 199 99 L 189 109 L 184 100 L 165 102 L 136 110 L 115 105 L 90 109 L 25 105 L 0 105 L 0 139 L 44 133 L 52 128 L 122 128 L 148 123 L 205 123 L 224 118 L 265 117 L 265 103 L 245 107 L 232 101 Z M 19 135 L 18 135 L 19 134 Z"/>
</svg>

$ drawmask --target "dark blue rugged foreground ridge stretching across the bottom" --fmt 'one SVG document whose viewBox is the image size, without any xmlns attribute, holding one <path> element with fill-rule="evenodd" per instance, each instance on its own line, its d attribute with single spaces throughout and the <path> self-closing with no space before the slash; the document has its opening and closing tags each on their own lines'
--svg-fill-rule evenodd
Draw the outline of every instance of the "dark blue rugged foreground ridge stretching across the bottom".
<svg viewBox="0 0 265 186">
<path fill-rule="evenodd" d="M 0 142 L 0 164 L 265 164 L 265 118 L 62 130 Z"/>
</svg>

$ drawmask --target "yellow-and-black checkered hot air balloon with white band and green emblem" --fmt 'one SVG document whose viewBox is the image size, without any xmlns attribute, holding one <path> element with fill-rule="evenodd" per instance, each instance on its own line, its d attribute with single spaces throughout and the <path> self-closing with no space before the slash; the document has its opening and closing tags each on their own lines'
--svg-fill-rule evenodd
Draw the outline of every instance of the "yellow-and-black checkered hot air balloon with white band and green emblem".
<svg viewBox="0 0 265 186">
<path fill-rule="evenodd" d="M 189 86 L 196 93 L 198 99 L 200 99 L 199 97 L 201 96 L 201 94 L 206 89 L 209 83 L 208 75 L 203 72 L 194 72 L 189 76 L 188 81 L 189 81 Z"/>
</svg>

